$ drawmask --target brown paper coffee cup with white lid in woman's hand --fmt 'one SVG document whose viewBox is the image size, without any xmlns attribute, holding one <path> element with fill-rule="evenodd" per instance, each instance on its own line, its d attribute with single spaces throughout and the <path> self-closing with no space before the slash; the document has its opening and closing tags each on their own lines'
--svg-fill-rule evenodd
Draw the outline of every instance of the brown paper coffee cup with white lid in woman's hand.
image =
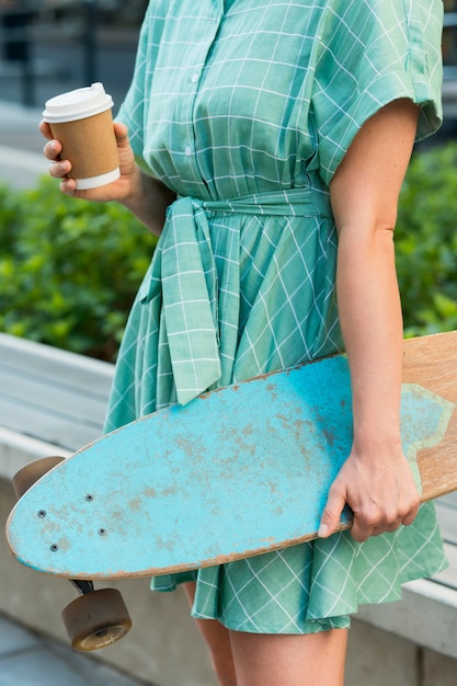
<svg viewBox="0 0 457 686">
<path fill-rule="evenodd" d="M 60 157 L 71 162 L 68 176 L 77 188 L 96 188 L 121 176 L 113 129 L 113 99 L 102 83 L 92 83 L 46 102 L 43 118 L 62 145 Z"/>
</svg>

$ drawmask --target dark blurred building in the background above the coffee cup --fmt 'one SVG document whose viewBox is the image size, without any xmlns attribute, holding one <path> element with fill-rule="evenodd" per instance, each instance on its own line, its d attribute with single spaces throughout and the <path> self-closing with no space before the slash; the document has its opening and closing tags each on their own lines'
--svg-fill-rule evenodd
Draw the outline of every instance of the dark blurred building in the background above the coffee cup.
<svg viewBox="0 0 457 686">
<path fill-rule="evenodd" d="M 0 0 L 0 100 L 42 106 L 103 81 L 119 104 L 147 0 Z"/>
</svg>

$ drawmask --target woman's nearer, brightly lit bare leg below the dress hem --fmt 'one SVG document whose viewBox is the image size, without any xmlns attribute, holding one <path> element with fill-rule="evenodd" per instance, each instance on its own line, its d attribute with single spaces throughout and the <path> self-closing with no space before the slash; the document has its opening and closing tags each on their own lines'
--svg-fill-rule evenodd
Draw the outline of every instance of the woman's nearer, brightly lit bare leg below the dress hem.
<svg viewBox="0 0 457 686">
<path fill-rule="evenodd" d="M 230 632 L 237 686 L 343 686 L 347 629 L 306 636 Z"/>
</svg>

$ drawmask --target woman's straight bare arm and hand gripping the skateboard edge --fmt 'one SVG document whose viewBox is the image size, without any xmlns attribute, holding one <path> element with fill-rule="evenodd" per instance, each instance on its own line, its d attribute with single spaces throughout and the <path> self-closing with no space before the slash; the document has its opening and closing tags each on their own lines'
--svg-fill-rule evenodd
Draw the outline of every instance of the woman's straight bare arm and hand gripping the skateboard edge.
<svg viewBox="0 0 457 686">
<path fill-rule="evenodd" d="M 419 507 L 400 439 L 402 316 L 393 252 L 398 197 L 418 107 L 396 101 L 359 130 L 331 183 L 339 231 L 336 293 L 353 389 L 354 442 L 321 521 L 330 535 L 345 503 L 353 537 L 411 524 Z"/>
</svg>

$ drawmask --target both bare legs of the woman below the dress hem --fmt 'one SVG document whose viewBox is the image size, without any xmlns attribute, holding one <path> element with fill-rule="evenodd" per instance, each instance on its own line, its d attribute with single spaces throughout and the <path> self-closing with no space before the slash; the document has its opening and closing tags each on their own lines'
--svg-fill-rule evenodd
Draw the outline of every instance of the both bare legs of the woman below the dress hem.
<svg viewBox="0 0 457 686">
<path fill-rule="evenodd" d="M 192 605 L 195 584 L 184 584 Z M 197 619 L 220 686 L 343 686 L 347 630 L 306 636 L 228 631 Z"/>
</svg>

